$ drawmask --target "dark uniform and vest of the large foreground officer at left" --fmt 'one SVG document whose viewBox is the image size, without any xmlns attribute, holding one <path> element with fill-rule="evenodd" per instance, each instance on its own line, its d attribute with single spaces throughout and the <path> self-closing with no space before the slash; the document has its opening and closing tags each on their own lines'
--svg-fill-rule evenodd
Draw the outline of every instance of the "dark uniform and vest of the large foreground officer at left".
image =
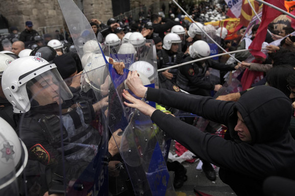
<svg viewBox="0 0 295 196">
<path fill-rule="evenodd" d="M 31 107 L 23 114 L 18 127 L 29 158 L 38 160 L 47 166 L 47 171 L 51 171 L 46 174 L 50 193 L 63 191 L 62 155 L 65 159 L 65 178 L 77 179 L 99 150 L 102 138 L 102 130 L 97 131 L 90 125 L 95 114 L 87 102 L 68 109 L 61 117 L 58 115 L 57 103 Z"/>
</svg>

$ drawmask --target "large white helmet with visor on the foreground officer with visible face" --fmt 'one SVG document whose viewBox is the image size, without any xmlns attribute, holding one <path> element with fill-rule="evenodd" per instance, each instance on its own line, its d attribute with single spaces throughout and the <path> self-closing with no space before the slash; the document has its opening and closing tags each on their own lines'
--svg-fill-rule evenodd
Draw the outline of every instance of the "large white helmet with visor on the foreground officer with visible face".
<svg viewBox="0 0 295 196">
<path fill-rule="evenodd" d="M 2 89 L 14 113 L 26 113 L 34 106 L 60 104 L 72 98 L 56 65 L 36 56 L 11 62 L 3 72 Z"/>
</svg>

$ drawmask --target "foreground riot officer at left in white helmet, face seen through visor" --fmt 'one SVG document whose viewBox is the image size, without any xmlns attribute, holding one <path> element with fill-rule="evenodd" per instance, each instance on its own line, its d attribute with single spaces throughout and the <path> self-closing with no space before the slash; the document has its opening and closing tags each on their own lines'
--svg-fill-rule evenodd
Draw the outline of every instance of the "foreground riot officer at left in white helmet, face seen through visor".
<svg viewBox="0 0 295 196">
<path fill-rule="evenodd" d="M 71 104 L 67 100 L 72 94 L 55 64 L 36 56 L 13 61 L 4 71 L 2 82 L 14 113 L 22 114 L 18 130 L 30 159 L 46 166 L 49 194 L 64 193 L 63 183 L 76 179 L 73 187 L 68 187 L 69 194 L 90 188 L 95 175 L 92 167 L 104 176 L 103 158 L 108 151 L 100 146 L 107 142 L 103 134 L 106 126 L 103 118 L 96 116 L 107 105 L 106 99 L 94 104 L 85 100 Z M 97 161 L 99 166 L 95 166 Z"/>
</svg>

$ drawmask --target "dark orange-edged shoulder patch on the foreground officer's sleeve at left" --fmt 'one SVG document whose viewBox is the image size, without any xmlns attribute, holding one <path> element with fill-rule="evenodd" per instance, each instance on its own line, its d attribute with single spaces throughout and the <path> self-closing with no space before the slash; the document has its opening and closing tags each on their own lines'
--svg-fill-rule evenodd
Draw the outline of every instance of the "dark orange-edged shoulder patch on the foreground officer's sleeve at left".
<svg viewBox="0 0 295 196">
<path fill-rule="evenodd" d="M 41 144 L 36 144 L 30 148 L 29 157 L 33 160 L 38 160 L 45 165 L 47 165 L 50 160 L 49 153 L 43 148 Z"/>
</svg>

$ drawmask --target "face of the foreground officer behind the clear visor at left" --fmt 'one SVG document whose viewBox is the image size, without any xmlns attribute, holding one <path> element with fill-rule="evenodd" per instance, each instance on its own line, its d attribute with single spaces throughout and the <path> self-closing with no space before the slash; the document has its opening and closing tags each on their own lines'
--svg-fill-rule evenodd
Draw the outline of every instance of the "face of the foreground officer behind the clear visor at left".
<svg viewBox="0 0 295 196">
<path fill-rule="evenodd" d="M 33 99 L 35 99 L 39 105 L 46 105 L 53 102 L 61 104 L 62 100 L 59 98 L 58 89 L 59 87 L 50 74 L 43 76 L 30 87 Z"/>
</svg>

